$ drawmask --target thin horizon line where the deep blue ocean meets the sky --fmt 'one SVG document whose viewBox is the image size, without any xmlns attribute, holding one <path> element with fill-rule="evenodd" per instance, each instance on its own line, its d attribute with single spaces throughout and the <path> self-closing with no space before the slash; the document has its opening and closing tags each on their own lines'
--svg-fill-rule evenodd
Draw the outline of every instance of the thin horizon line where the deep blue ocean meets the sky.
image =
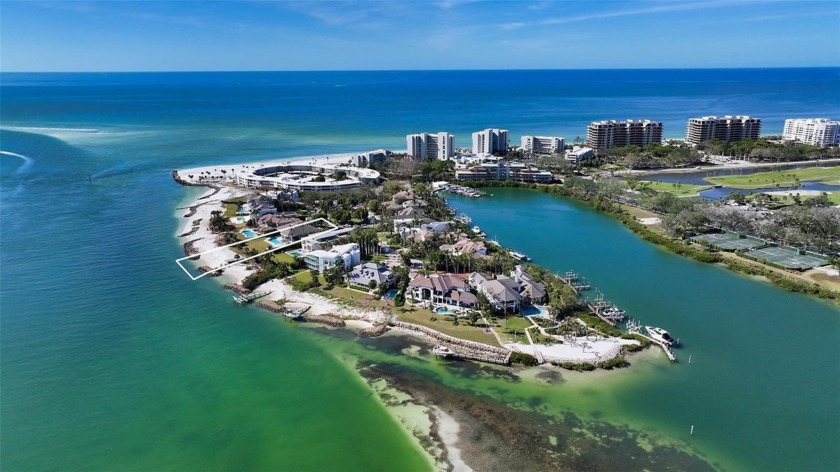
<svg viewBox="0 0 840 472">
<path fill-rule="evenodd" d="M 509 68 L 509 69 L 204 69 L 204 70 L 0 70 L 0 74 L 207 74 L 265 72 L 506 72 L 506 71 L 645 71 L 645 70 L 765 70 L 840 69 L 832 66 L 748 66 L 748 67 L 597 67 L 597 68 Z"/>
</svg>

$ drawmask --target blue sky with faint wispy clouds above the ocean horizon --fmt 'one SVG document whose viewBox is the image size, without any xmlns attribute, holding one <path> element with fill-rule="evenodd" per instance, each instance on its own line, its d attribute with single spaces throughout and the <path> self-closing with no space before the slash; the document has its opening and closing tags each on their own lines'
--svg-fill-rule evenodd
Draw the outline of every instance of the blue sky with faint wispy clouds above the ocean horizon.
<svg viewBox="0 0 840 472">
<path fill-rule="evenodd" d="M 840 66 L 840 1 L 8 1 L 0 70 Z"/>
</svg>

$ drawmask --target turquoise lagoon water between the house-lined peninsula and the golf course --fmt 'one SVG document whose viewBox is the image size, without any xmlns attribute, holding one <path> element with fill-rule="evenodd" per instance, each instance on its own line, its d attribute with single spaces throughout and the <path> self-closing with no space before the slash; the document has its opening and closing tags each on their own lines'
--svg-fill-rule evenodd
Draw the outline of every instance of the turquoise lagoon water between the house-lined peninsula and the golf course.
<svg viewBox="0 0 840 472">
<path fill-rule="evenodd" d="M 736 469 L 840 467 L 835 305 L 676 257 L 568 200 L 489 192 L 449 202 L 500 243 L 515 242 L 552 270 L 576 270 L 628 316 L 680 338 L 679 364 L 635 369 L 636 381 L 600 393 L 603 417 L 674 437 L 695 425 L 702 435 L 692 442 Z M 540 230 L 523 237 L 536 220 Z"/>
</svg>

